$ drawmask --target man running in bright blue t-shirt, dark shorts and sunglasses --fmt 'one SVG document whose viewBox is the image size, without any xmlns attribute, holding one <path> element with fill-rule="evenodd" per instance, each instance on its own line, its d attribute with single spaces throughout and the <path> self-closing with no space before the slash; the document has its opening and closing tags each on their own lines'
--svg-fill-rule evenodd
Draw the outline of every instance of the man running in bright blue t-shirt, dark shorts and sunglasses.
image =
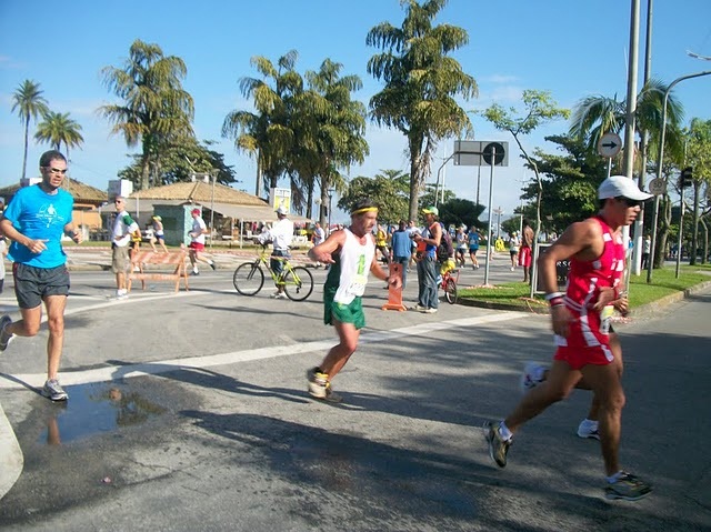
<svg viewBox="0 0 711 532">
<path fill-rule="evenodd" d="M 14 294 L 20 307 L 20 321 L 4 314 L 0 318 L 0 351 L 14 335 L 34 337 L 40 330 L 42 302 L 47 309 L 47 382 L 42 395 L 66 401 L 67 392 L 57 380 L 64 341 L 64 308 L 69 294 L 69 271 L 61 238 L 81 243 L 81 233 L 71 221 L 74 199 L 62 190 L 67 159 L 51 150 L 40 157 L 42 182 L 26 187 L 10 201 L 0 231 L 11 241 L 8 257 L 14 277 Z"/>
</svg>

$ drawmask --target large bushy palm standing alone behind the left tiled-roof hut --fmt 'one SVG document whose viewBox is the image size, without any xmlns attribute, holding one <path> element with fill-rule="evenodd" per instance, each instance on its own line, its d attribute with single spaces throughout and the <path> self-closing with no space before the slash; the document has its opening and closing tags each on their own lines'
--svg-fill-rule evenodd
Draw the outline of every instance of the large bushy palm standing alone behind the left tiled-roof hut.
<svg viewBox="0 0 711 532">
<path fill-rule="evenodd" d="M 141 189 L 150 187 L 150 168 L 160 165 L 161 149 L 172 140 L 194 137 L 194 103 L 183 90 L 188 69 L 182 59 L 163 56 L 158 44 L 137 39 L 123 68 L 104 67 L 103 83 L 122 103 L 102 106 L 99 113 L 121 133 L 129 148 L 141 143 Z"/>
</svg>

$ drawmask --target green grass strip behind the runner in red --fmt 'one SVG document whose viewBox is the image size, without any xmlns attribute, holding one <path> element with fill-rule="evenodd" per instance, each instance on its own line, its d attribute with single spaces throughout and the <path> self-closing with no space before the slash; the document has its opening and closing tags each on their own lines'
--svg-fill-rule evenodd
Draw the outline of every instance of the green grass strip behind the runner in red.
<svg viewBox="0 0 711 532">
<path fill-rule="evenodd" d="M 649 304 L 667 295 L 681 292 L 702 282 L 711 281 L 711 264 L 681 265 L 679 279 L 675 268 L 665 267 L 652 271 L 652 282 L 647 283 L 647 272 L 632 275 L 630 280 L 630 309 Z M 522 282 L 504 283 L 493 288 L 459 287 L 459 298 L 482 305 L 501 304 L 520 308 L 521 310 L 547 310 L 548 303 L 543 294 L 529 298 L 530 287 Z"/>
</svg>

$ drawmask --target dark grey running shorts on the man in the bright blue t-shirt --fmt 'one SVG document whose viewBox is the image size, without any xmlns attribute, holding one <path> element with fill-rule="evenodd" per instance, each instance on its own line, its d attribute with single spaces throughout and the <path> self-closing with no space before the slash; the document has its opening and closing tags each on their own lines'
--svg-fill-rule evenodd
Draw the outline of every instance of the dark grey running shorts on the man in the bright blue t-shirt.
<svg viewBox="0 0 711 532">
<path fill-rule="evenodd" d="M 12 264 L 12 274 L 20 309 L 34 309 L 47 295 L 69 295 L 67 264 L 36 268 L 16 262 Z"/>
</svg>

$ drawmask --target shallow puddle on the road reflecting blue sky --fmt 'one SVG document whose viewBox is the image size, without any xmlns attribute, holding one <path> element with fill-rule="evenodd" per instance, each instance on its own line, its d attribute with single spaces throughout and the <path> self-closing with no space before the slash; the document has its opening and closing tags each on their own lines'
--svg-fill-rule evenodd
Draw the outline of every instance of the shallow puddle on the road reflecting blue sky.
<svg viewBox="0 0 711 532">
<path fill-rule="evenodd" d="M 52 404 L 38 442 L 59 445 L 127 426 L 140 425 L 166 409 L 129 387 L 87 384 L 70 387 L 69 401 Z"/>
</svg>

